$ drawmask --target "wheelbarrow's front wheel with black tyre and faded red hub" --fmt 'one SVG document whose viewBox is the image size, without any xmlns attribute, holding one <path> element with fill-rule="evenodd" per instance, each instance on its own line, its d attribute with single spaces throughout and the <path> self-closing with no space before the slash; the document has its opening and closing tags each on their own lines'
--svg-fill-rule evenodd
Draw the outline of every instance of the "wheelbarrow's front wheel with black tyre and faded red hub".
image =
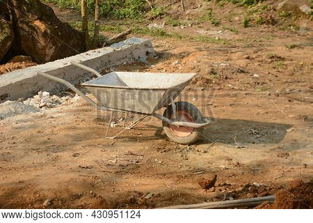
<svg viewBox="0 0 313 223">
<path fill-rule="evenodd" d="M 175 121 L 185 121 L 190 123 L 202 123 L 203 116 L 195 105 L 189 102 L 175 102 L 176 105 L 176 119 Z M 168 105 L 163 114 L 164 117 L 174 121 L 172 105 Z M 179 144 L 192 144 L 200 139 L 203 128 L 190 128 L 186 126 L 170 125 L 166 121 L 162 122 L 163 130 L 172 141 Z"/>
</svg>

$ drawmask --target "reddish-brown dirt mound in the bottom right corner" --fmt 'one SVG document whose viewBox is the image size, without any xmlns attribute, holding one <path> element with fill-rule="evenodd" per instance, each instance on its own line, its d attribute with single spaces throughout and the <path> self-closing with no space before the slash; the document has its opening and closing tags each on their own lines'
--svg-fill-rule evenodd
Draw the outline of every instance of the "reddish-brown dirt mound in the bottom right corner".
<svg viewBox="0 0 313 223">
<path fill-rule="evenodd" d="M 289 187 L 278 190 L 273 204 L 268 201 L 257 206 L 257 209 L 307 209 L 313 205 L 313 181 L 293 180 Z"/>
</svg>

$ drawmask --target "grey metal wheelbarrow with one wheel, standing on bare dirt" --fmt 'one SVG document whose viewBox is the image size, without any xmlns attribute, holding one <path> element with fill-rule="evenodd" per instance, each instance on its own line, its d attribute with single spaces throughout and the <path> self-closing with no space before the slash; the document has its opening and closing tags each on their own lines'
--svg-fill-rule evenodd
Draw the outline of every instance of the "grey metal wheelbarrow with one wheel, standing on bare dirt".
<svg viewBox="0 0 313 223">
<path fill-rule="evenodd" d="M 154 116 L 161 119 L 163 130 L 172 141 L 178 144 L 192 144 L 202 137 L 204 127 L 210 123 L 195 105 L 174 101 L 193 79 L 195 76 L 193 73 L 111 72 L 102 76 L 81 63 L 74 61 L 71 63 L 97 76 L 81 84 L 97 98 L 97 102 L 63 79 L 45 72 L 38 72 L 38 75 L 64 84 L 97 109 L 112 112 L 106 129 L 106 138 L 114 139 L 125 130 L 134 128 L 147 116 Z M 166 107 L 163 115 L 157 114 L 163 107 Z M 109 128 L 114 126 L 112 124 L 115 112 L 126 114 L 124 130 L 114 137 L 108 137 Z M 143 116 L 125 127 L 129 113 Z"/>
</svg>

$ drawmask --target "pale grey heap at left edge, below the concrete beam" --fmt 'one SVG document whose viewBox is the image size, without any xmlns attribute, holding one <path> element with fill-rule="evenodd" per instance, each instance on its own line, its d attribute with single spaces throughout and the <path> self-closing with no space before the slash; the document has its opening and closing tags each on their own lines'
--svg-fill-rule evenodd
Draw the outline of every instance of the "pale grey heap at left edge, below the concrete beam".
<svg viewBox="0 0 313 223">
<path fill-rule="evenodd" d="M 29 114 L 38 112 L 39 109 L 30 105 L 24 105 L 22 102 L 6 101 L 0 104 L 0 120 L 16 116 L 18 114 Z"/>
</svg>

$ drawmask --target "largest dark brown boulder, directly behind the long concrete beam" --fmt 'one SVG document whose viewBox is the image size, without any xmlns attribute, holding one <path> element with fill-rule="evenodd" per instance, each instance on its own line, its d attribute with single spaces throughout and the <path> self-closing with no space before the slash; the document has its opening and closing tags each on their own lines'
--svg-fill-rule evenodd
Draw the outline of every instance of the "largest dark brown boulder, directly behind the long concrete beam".
<svg viewBox="0 0 313 223">
<path fill-rule="evenodd" d="M 58 20 L 49 6 L 39 0 L 7 1 L 15 24 L 13 53 L 29 55 L 37 63 L 46 63 L 83 51 L 81 33 Z"/>
</svg>

